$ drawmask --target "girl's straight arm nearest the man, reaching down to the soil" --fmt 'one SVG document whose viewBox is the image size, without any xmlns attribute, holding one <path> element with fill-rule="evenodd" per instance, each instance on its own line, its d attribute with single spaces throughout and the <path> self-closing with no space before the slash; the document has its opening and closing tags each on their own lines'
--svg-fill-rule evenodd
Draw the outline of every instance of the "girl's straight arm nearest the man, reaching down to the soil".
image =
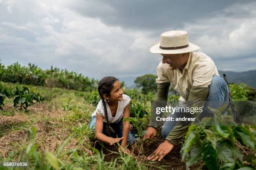
<svg viewBox="0 0 256 170">
<path fill-rule="evenodd" d="M 130 103 L 125 107 L 123 111 L 123 119 L 126 117 L 130 117 Z M 122 147 L 125 147 L 127 145 L 129 130 L 130 130 L 130 122 L 123 121 L 123 140 L 121 143 Z"/>
</svg>

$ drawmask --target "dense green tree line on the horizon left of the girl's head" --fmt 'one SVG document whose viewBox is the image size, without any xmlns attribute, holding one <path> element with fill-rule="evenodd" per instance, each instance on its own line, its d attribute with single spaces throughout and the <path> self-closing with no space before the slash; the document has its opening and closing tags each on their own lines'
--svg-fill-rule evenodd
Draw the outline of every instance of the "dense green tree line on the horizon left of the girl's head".
<svg viewBox="0 0 256 170">
<path fill-rule="evenodd" d="M 18 62 L 5 66 L 0 62 L 0 81 L 26 85 L 64 87 L 72 90 L 90 91 L 95 89 L 97 81 L 77 72 L 63 70 L 51 66 L 42 70 L 37 65 L 29 63 L 21 66 Z"/>
</svg>

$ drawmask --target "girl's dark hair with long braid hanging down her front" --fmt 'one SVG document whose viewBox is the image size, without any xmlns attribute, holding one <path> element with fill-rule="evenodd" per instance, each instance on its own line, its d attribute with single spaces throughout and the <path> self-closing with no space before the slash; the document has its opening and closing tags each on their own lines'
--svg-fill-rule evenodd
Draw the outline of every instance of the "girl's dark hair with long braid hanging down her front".
<svg viewBox="0 0 256 170">
<path fill-rule="evenodd" d="M 113 88 L 113 84 L 117 80 L 118 80 L 117 78 L 112 77 L 112 76 L 104 77 L 100 80 L 99 85 L 98 85 L 98 92 L 99 92 L 100 98 L 101 98 L 103 106 L 104 106 L 104 115 L 105 115 L 105 118 L 107 121 L 107 125 L 106 125 L 107 135 L 110 135 L 110 128 L 109 128 L 109 122 L 108 122 L 108 111 L 107 111 L 107 107 L 106 107 L 106 103 L 105 103 L 103 95 L 110 95 L 110 91 Z"/>
</svg>

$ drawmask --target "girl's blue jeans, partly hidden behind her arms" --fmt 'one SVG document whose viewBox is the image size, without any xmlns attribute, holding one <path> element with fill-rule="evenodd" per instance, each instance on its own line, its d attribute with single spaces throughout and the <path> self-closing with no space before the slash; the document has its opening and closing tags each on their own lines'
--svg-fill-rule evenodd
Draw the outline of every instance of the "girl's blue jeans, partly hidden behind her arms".
<svg viewBox="0 0 256 170">
<path fill-rule="evenodd" d="M 96 124 L 96 116 L 93 116 L 92 117 L 92 120 L 90 122 L 90 125 L 89 127 L 95 131 L 95 124 Z M 103 130 L 102 130 L 102 133 L 106 135 L 106 125 L 107 123 L 103 122 Z M 115 131 L 115 133 L 111 133 L 111 136 L 112 138 L 122 138 L 123 137 L 123 118 L 117 122 L 117 123 L 110 123 L 109 126 Z M 131 130 L 129 130 L 129 135 L 128 135 L 128 140 L 127 140 L 127 143 L 128 145 L 131 145 L 135 142 L 135 138 L 134 138 L 134 135 L 133 133 L 131 132 Z"/>
</svg>

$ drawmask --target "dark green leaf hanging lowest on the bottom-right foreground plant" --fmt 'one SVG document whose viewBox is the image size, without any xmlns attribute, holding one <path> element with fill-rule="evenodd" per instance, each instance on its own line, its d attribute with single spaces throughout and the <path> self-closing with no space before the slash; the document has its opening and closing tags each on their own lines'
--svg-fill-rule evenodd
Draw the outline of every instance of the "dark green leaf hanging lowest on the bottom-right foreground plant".
<svg viewBox="0 0 256 170">
<path fill-rule="evenodd" d="M 212 143 L 207 140 L 202 144 L 202 156 L 205 165 L 210 170 L 218 170 L 216 150 L 213 148 Z"/>
</svg>

